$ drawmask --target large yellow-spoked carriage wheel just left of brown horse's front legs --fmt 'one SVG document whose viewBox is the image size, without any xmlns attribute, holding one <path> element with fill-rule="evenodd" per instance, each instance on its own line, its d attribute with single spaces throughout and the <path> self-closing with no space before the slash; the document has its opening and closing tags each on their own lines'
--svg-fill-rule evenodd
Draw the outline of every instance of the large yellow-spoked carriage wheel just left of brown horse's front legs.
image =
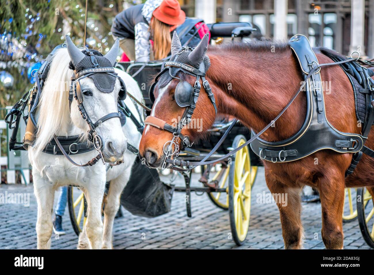
<svg viewBox="0 0 374 275">
<path fill-rule="evenodd" d="M 237 135 L 233 148 L 244 144 L 243 135 Z M 257 174 L 257 166 L 251 166 L 248 146 L 234 155 L 229 169 L 229 216 L 232 237 L 237 245 L 242 245 L 249 227 L 251 214 L 251 192 Z"/>
</svg>

